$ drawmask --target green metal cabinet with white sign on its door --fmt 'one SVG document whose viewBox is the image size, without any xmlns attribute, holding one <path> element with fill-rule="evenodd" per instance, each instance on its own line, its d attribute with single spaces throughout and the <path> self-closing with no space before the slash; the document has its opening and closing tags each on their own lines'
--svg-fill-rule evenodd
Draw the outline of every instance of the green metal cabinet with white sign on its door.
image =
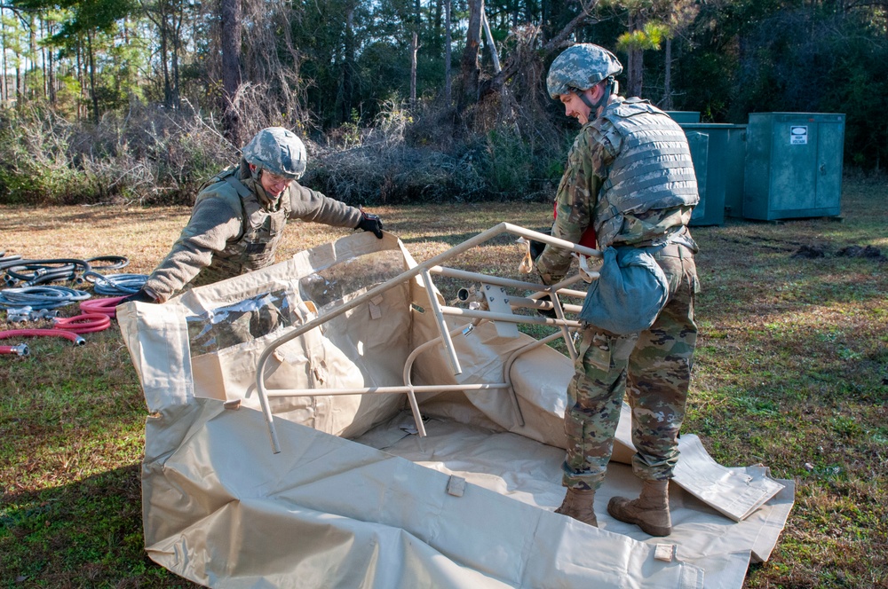
<svg viewBox="0 0 888 589">
<path fill-rule="evenodd" d="M 838 216 L 842 200 L 844 114 L 751 113 L 743 216 Z"/>
</svg>

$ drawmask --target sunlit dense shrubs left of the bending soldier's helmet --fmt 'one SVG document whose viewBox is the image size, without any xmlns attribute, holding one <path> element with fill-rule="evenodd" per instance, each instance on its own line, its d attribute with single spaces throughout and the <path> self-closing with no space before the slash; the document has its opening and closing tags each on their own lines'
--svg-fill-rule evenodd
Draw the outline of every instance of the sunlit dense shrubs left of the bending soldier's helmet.
<svg viewBox="0 0 888 589">
<path fill-rule="evenodd" d="M 190 204 L 202 182 L 237 161 L 197 114 L 133 106 L 98 125 L 49 110 L 0 113 L 0 202 Z"/>
</svg>

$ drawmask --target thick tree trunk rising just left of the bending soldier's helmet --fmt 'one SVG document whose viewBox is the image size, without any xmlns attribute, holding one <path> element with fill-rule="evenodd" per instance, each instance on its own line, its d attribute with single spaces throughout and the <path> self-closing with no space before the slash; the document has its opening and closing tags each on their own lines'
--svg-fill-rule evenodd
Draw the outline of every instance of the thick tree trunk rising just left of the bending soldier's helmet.
<svg viewBox="0 0 888 589">
<path fill-rule="evenodd" d="M 241 0 L 221 0 L 222 99 L 223 126 L 233 145 L 244 141 L 243 120 L 237 110 L 237 91 L 241 87 Z"/>
</svg>

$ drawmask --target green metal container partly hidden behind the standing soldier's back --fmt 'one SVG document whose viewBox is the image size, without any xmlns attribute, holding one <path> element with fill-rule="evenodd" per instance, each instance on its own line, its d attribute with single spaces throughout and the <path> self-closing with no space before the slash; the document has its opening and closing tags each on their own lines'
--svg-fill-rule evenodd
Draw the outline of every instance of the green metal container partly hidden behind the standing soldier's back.
<svg viewBox="0 0 888 589">
<path fill-rule="evenodd" d="M 679 123 L 691 148 L 700 204 L 692 225 L 720 225 L 741 216 L 746 125 L 723 122 Z"/>
</svg>

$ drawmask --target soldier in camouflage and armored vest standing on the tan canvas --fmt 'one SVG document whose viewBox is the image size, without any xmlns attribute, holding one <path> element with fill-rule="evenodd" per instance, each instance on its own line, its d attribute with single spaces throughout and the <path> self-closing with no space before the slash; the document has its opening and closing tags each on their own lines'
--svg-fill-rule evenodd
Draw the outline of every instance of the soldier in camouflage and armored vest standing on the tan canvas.
<svg viewBox="0 0 888 589">
<path fill-rule="evenodd" d="M 654 324 L 641 332 L 616 334 L 583 323 L 567 389 L 567 495 L 557 512 L 598 525 L 593 500 L 626 397 L 638 450 L 632 467 L 642 491 L 638 499 L 612 499 L 607 511 L 666 536 L 668 483 L 678 461 L 697 334 L 697 248 L 687 224 L 698 195 L 684 132 L 646 100 L 616 96 L 614 75 L 621 72 L 612 53 L 590 43 L 570 47 L 551 65 L 551 97 L 583 123 L 567 156 L 552 234 L 577 243 L 591 228 L 601 249 L 644 248 L 665 274 L 668 295 Z M 570 261 L 569 252 L 547 246 L 536 269 L 550 285 L 564 278 Z"/>
</svg>

